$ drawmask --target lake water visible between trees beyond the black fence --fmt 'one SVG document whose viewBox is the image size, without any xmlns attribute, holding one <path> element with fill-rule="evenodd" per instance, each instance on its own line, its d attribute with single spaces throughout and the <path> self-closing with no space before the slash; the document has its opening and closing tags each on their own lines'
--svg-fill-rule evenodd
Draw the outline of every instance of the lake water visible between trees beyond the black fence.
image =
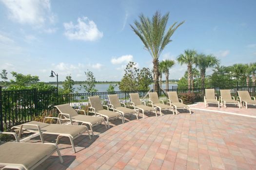
<svg viewBox="0 0 256 170">
<path fill-rule="evenodd" d="M 96 84 L 95 88 L 98 90 L 98 92 L 105 92 L 107 91 L 108 87 L 110 84 Z M 150 88 L 153 88 L 153 84 L 149 85 Z M 177 84 L 169 84 L 169 88 L 172 88 L 172 86 L 177 86 Z M 62 87 L 62 85 L 59 85 L 59 87 Z M 74 92 L 78 92 L 78 93 L 84 93 L 84 89 L 79 90 L 78 87 L 80 87 L 80 85 L 74 85 L 73 86 L 75 88 Z M 165 89 L 165 83 L 162 83 L 162 88 Z M 115 87 L 115 91 L 120 91 L 118 86 Z"/>
</svg>

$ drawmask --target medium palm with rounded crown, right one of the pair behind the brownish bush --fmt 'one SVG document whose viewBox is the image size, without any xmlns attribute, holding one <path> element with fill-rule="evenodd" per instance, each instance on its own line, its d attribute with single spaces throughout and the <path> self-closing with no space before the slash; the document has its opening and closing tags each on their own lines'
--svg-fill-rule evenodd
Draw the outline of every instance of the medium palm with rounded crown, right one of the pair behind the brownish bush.
<svg viewBox="0 0 256 170">
<path fill-rule="evenodd" d="M 213 68 L 219 65 L 219 60 L 213 55 L 198 54 L 196 57 L 196 66 L 200 70 L 201 87 L 204 88 L 205 72 L 207 68 Z"/>
</svg>

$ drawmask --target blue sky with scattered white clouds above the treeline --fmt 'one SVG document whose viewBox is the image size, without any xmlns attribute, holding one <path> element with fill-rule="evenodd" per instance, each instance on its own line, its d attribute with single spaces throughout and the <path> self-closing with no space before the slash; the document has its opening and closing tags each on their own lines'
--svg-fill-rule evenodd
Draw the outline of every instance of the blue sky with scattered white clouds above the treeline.
<svg viewBox="0 0 256 170">
<path fill-rule="evenodd" d="M 120 81 L 129 61 L 153 68 L 130 24 L 156 11 L 170 13 L 167 28 L 185 20 L 159 61 L 190 49 L 223 66 L 256 62 L 255 9 L 256 0 L 0 0 L 0 70 L 52 82 L 51 70 L 84 81 L 88 69 L 97 81 Z M 169 79 L 186 69 L 176 62 Z"/>
</svg>

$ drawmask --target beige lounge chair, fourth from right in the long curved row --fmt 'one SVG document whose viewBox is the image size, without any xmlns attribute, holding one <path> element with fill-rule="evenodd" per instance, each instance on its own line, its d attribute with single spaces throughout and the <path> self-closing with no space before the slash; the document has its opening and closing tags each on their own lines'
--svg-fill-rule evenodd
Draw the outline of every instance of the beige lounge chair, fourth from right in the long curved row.
<svg viewBox="0 0 256 170">
<path fill-rule="evenodd" d="M 123 116 L 123 120 L 124 120 L 124 116 L 133 115 L 133 114 L 135 114 L 136 118 L 138 119 L 137 111 L 135 109 L 127 108 L 125 103 L 122 103 L 119 101 L 117 94 L 108 95 L 108 98 L 110 102 L 109 108 L 113 109 L 113 111 L 117 111 L 121 113 Z M 122 107 L 121 104 L 123 104 L 124 107 Z"/>
</svg>

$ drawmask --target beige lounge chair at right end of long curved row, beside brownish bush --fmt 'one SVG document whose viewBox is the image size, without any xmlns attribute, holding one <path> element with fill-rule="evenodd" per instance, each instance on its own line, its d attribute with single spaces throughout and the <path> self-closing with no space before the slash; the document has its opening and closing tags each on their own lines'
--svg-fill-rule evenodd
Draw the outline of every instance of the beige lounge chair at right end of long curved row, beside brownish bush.
<svg viewBox="0 0 256 170">
<path fill-rule="evenodd" d="M 167 104 L 169 103 L 175 108 L 176 114 L 177 114 L 177 109 L 188 109 L 189 113 L 191 114 L 190 107 L 184 104 L 181 99 L 178 99 L 178 95 L 176 91 L 168 91 L 168 98 L 169 99 L 167 99 Z"/>
</svg>

